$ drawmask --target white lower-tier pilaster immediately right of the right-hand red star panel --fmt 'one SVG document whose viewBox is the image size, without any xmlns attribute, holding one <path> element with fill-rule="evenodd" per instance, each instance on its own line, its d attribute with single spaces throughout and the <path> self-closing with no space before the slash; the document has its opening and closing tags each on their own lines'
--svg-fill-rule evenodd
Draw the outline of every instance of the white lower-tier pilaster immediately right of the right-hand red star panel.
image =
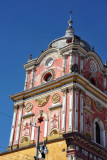
<svg viewBox="0 0 107 160">
<path fill-rule="evenodd" d="M 66 116 L 66 89 L 63 92 L 63 102 L 62 102 L 62 132 L 65 132 L 65 116 Z"/>
</svg>

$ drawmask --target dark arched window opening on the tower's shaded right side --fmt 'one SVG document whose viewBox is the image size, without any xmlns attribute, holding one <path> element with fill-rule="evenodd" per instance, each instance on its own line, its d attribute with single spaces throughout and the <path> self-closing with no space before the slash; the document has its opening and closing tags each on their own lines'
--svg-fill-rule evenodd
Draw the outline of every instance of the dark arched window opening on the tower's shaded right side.
<svg viewBox="0 0 107 160">
<path fill-rule="evenodd" d="M 102 146 L 105 146 L 104 125 L 99 118 L 94 120 L 94 141 Z"/>
</svg>

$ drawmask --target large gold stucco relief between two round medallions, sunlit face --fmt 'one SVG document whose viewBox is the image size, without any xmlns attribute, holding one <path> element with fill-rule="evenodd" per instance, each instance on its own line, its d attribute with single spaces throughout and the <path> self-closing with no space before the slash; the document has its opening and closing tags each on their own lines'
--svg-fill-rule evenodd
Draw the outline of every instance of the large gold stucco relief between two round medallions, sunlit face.
<svg viewBox="0 0 107 160">
<path fill-rule="evenodd" d="M 48 96 L 44 96 L 44 97 L 41 97 L 41 98 L 38 98 L 38 99 L 36 99 L 36 105 L 38 106 L 38 107 L 43 107 L 43 106 L 45 106 L 46 105 L 46 103 L 48 102 L 48 100 L 49 100 L 49 95 Z"/>
</svg>

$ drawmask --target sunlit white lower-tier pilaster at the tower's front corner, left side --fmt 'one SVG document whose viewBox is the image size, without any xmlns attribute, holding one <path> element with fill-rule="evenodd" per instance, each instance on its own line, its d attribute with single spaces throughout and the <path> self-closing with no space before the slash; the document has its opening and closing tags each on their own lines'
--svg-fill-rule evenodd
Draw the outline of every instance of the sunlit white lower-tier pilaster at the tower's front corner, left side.
<svg viewBox="0 0 107 160">
<path fill-rule="evenodd" d="M 73 129 L 73 88 L 69 88 L 69 121 L 68 128 L 72 131 Z"/>
</svg>

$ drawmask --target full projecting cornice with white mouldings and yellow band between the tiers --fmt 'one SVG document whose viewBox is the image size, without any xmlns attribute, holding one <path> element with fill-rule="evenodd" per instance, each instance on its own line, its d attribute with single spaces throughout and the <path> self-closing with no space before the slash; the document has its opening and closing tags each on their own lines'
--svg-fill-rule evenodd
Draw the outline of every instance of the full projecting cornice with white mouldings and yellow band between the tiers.
<svg viewBox="0 0 107 160">
<path fill-rule="evenodd" d="M 53 80 L 51 82 L 40 85 L 38 87 L 34 87 L 32 89 L 13 94 L 10 96 L 10 98 L 13 101 L 19 101 L 21 99 L 24 100 L 31 96 L 33 97 L 41 93 L 52 91 L 55 88 L 63 89 L 70 86 L 79 87 L 84 92 L 88 92 L 90 95 L 93 95 L 102 102 L 104 102 L 105 105 L 107 103 L 107 95 L 98 88 L 96 88 L 94 85 L 92 85 L 87 79 L 85 79 L 78 73 L 71 73 L 57 78 L 56 80 Z"/>
</svg>

